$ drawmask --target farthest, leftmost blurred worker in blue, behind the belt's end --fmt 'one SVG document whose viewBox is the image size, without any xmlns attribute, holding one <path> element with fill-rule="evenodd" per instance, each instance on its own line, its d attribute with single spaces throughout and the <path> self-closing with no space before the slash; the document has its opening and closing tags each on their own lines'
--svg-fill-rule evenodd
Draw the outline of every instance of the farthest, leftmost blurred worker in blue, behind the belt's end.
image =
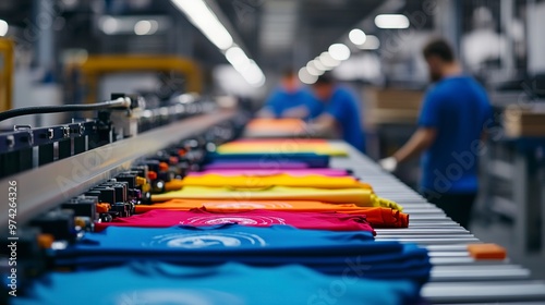
<svg viewBox="0 0 545 305">
<path fill-rule="evenodd" d="M 293 70 L 286 70 L 279 88 L 267 98 L 257 117 L 261 118 L 293 118 L 308 120 L 322 113 L 323 106 L 312 94 L 301 86 Z"/>
</svg>

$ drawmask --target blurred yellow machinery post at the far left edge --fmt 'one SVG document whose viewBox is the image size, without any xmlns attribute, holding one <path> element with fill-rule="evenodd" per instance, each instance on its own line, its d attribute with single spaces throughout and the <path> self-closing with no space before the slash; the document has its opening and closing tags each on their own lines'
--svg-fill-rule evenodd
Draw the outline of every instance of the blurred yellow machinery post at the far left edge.
<svg viewBox="0 0 545 305">
<path fill-rule="evenodd" d="M 9 110 L 12 107 L 13 51 L 13 40 L 0 38 L 0 111 Z"/>
</svg>

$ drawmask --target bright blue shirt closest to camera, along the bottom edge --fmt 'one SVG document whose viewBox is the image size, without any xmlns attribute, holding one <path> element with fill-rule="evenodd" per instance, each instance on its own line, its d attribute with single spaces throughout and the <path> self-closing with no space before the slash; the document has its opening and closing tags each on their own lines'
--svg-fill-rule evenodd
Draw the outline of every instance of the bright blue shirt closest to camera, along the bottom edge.
<svg viewBox="0 0 545 305">
<path fill-rule="evenodd" d="M 180 267 L 160 263 L 133 263 L 85 272 L 53 272 L 36 282 L 31 304 L 416 304 L 420 286 L 404 280 L 325 276 L 301 266 L 255 268 L 238 264 L 216 267 Z"/>
</svg>

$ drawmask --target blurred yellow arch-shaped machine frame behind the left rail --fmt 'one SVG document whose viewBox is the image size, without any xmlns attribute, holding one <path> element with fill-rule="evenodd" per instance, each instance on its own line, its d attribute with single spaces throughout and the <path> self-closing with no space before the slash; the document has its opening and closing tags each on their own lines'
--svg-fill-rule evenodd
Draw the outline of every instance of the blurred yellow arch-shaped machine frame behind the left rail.
<svg viewBox="0 0 545 305">
<path fill-rule="evenodd" d="M 198 65 L 190 59 L 174 56 L 89 56 L 85 61 L 68 66 L 68 72 L 78 70 L 86 88 L 84 101 L 97 101 L 99 78 L 110 73 L 174 72 L 185 77 L 186 90 L 202 93 L 203 76 Z"/>
</svg>

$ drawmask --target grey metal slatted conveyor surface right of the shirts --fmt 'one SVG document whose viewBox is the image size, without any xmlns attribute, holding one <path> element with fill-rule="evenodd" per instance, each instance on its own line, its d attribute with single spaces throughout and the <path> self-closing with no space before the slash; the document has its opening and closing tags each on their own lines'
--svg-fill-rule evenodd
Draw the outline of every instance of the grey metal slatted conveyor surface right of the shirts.
<svg viewBox="0 0 545 305">
<path fill-rule="evenodd" d="M 339 142 L 332 142 L 342 145 Z M 429 251 L 432 278 L 422 295 L 432 304 L 545 304 L 545 282 L 530 270 L 504 260 L 475 260 L 467 251 L 480 243 L 471 232 L 448 218 L 376 162 L 347 146 L 349 157 L 335 157 L 331 167 L 350 169 L 373 185 L 377 195 L 398 202 L 410 215 L 407 229 L 377 229 L 377 241 L 416 243 Z"/>
</svg>

